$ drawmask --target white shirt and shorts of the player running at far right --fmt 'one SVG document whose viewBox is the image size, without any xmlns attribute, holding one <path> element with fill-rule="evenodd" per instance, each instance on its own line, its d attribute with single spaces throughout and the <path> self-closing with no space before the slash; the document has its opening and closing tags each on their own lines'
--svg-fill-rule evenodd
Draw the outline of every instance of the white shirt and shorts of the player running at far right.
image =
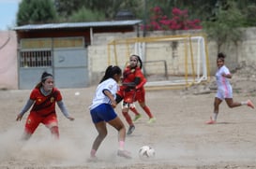
<svg viewBox="0 0 256 169">
<path fill-rule="evenodd" d="M 230 70 L 225 65 L 222 65 L 215 74 L 217 85 L 218 85 L 217 97 L 219 99 L 232 98 L 233 97 L 232 86 L 230 84 L 229 79 L 227 77 L 222 76 L 223 74 L 225 75 L 231 74 Z"/>
</svg>

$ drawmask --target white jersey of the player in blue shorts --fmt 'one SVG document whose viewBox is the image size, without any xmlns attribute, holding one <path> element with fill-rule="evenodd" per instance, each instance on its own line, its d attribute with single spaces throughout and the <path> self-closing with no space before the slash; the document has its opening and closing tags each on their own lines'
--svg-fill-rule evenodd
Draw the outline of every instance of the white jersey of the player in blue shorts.
<svg viewBox="0 0 256 169">
<path fill-rule="evenodd" d="M 98 84 L 93 103 L 89 109 L 93 109 L 101 104 L 111 104 L 111 100 L 106 96 L 103 91 L 108 90 L 113 94 L 113 97 L 116 97 L 116 92 L 118 90 L 118 84 L 113 78 L 108 78 L 105 81 Z"/>
</svg>

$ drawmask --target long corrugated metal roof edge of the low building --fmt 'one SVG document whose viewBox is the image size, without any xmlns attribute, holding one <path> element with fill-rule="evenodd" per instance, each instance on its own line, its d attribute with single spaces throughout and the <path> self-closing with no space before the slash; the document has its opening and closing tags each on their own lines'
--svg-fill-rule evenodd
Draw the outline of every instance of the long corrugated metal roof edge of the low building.
<svg viewBox="0 0 256 169">
<path fill-rule="evenodd" d="M 128 21 L 92 21 L 92 22 L 65 22 L 65 23 L 46 23 L 46 24 L 26 24 L 14 27 L 14 31 L 21 30 L 39 30 L 39 29 L 63 29 L 63 28 L 86 28 L 86 27 L 104 27 L 104 26 L 127 26 L 135 25 L 141 20 Z"/>
</svg>

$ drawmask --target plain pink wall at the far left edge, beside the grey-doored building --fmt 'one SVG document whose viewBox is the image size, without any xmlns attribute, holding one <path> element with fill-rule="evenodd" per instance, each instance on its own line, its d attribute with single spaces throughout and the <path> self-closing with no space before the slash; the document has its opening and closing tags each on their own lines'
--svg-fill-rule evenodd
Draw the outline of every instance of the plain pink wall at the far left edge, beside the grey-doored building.
<svg viewBox="0 0 256 169">
<path fill-rule="evenodd" d="M 18 89 L 17 38 L 13 31 L 0 31 L 1 89 Z"/>
</svg>

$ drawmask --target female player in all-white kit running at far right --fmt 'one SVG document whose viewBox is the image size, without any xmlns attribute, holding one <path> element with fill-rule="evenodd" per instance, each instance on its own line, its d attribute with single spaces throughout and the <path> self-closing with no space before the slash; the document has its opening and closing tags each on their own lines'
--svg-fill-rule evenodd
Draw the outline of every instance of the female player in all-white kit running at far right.
<svg viewBox="0 0 256 169">
<path fill-rule="evenodd" d="M 236 106 L 243 106 L 243 105 L 254 108 L 250 100 L 246 102 L 241 102 L 241 103 L 233 102 L 233 90 L 228 79 L 228 78 L 232 78 L 232 74 L 224 64 L 225 57 L 226 56 L 223 53 L 218 53 L 218 58 L 217 58 L 218 71 L 216 72 L 216 75 L 215 75 L 217 79 L 218 92 L 216 94 L 215 101 L 214 101 L 213 116 L 210 117 L 209 121 L 206 121 L 206 124 L 216 123 L 217 117 L 218 117 L 218 106 L 221 104 L 222 100 L 225 100 L 227 105 L 231 108 Z"/>
</svg>

